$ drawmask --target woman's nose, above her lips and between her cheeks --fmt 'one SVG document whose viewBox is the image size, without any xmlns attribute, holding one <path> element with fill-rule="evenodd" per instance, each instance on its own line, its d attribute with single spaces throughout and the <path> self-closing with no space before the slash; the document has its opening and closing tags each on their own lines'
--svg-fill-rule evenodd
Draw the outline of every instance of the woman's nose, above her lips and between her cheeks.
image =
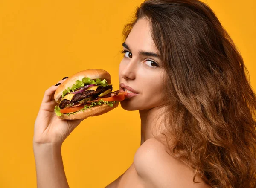
<svg viewBox="0 0 256 188">
<path fill-rule="evenodd" d="M 134 80 L 136 78 L 137 60 L 131 59 L 128 63 L 124 62 L 124 68 L 121 71 L 122 78 Z"/>
</svg>

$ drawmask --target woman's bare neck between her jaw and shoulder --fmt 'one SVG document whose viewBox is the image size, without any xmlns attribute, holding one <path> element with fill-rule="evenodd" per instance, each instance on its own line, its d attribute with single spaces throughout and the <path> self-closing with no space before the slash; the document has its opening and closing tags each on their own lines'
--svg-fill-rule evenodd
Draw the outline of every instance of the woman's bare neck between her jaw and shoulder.
<svg viewBox="0 0 256 188">
<path fill-rule="evenodd" d="M 160 134 L 162 125 L 164 107 L 154 107 L 151 109 L 140 110 L 141 120 L 141 140 L 140 145 L 147 139 L 153 138 Z"/>
</svg>

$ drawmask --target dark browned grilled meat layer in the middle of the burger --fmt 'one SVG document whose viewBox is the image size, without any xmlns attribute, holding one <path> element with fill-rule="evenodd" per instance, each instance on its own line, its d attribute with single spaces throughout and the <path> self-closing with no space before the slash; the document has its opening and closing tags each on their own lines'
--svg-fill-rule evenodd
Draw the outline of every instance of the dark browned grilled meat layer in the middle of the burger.
<svg viewBox="0 0 256 188">
<path fill-rule="evenodd" d="M 99 86 L 96 89 L 96 91 L 94 91 L 94 90 L 87 90 L 87 91 L 84 91 L 82 93 L 75 94 L 71 101 L 69 101 L 67 99 L 62 100 L 60 105 L 59 105 L 59 107 L 60 107 L 60 109 L 63 109 L 67 104 L 70 104 L 71 102 L 75 103 L 77 101 L 81 101 L 84 98 L 87 98 L 89 96 L 95 96 L 95 98 L 96 98 L 100 93 L 103 93 L 104 91 L 106 91 L 108 89 L 112 90 L 112 86 L 111 85 L 105 86 L 105 87 Z"/>
</svg>

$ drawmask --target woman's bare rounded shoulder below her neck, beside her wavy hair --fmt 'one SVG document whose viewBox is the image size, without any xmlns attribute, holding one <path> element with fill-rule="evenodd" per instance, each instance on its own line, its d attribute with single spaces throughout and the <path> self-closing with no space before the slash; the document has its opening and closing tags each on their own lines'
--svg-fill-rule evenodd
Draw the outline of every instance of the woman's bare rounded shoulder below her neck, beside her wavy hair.
<svg viewBox="0 0 256 188">
<path fill-rule="evenodd" d="M 154 138 L 138 148 L 134 167 L 145 184 L 154 188 L 209 188 L 201 179 L 194 183 L 192 169 L 170 156 L 166 146 Z"/>
</svg>

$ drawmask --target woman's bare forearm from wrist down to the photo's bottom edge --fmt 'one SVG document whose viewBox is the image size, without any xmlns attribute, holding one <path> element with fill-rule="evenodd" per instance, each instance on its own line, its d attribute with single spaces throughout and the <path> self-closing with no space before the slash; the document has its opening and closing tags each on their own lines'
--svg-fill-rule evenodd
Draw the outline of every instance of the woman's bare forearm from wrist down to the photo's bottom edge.
<svg viewBox="0 0 256 188">
<path fill-rule="evenodd" d="M 33 144 L 37 188 L 69 188 L 61 157 L 61 145 Z"/>
</svg>

